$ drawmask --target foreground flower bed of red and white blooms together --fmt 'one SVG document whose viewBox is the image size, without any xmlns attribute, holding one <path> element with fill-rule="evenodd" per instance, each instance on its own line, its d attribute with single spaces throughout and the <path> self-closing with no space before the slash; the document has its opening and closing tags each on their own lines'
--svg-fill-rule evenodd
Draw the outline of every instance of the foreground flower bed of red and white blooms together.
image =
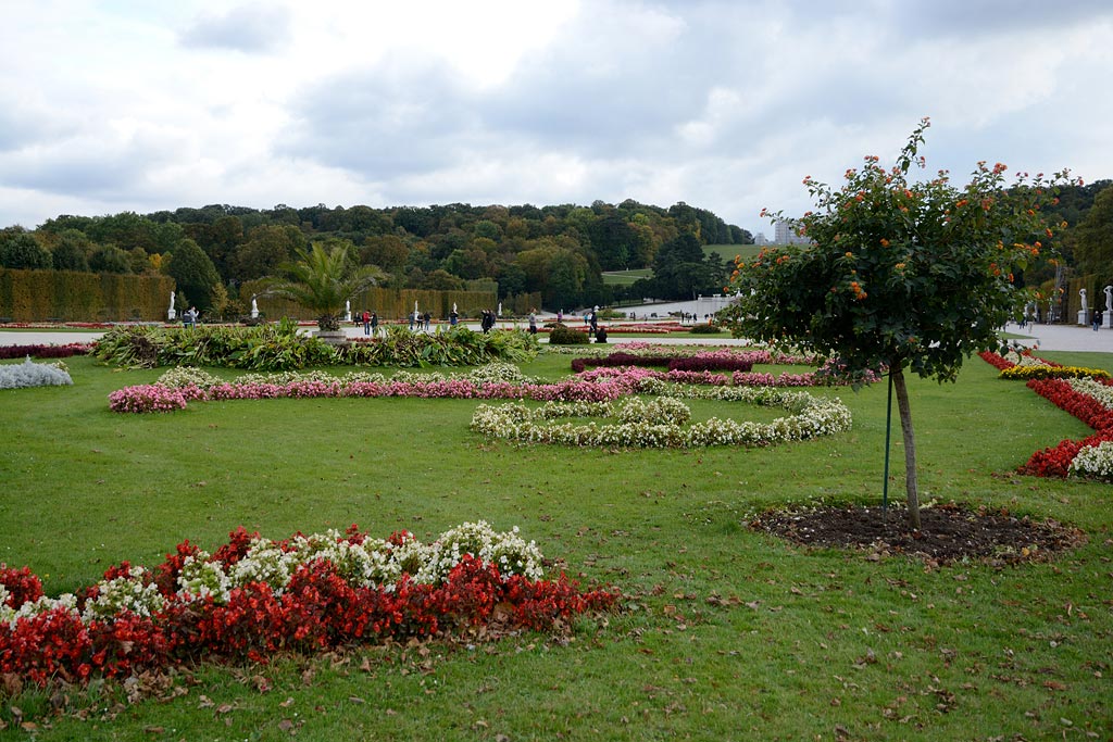
<svg viewBox="0 0 1113 742">
<path fill-rule="evenodd" d="M 154 570 L 122 562 L 57 598 L 27 567 L 0 564 L 0 676 L 83 683 L 201 660 L 263 663 L 275 652 L 452 639 L 475 626 L 567 631 L 620 598 L 563 574 L 542 578 L 533 542 L 484 522 L 431 544 L 405 531 L 371 538 L 356 526 L 283 541 L 229 535 L 213 554 L 185 541 Z"/>
</svg>

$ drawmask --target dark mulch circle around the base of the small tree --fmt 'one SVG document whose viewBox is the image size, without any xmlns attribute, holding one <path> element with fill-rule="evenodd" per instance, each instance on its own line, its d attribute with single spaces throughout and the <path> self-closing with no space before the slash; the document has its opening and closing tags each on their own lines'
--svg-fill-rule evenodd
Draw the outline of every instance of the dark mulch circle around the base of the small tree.
<svg viewBox="0 0 1113 742">
<path fill-rule="evenodd" d="M 750 521 L 750 527 L 805 546 L 861 550 L 871 560 L 906 554 L 929 564 L 1046 561 L 1086 540 L 1082 531 L 1056 521 L 954 503 L 922 508 L 918 532 L 908 527 L 904 507 L 850 505 L 769 511 Z"/>
</svg>

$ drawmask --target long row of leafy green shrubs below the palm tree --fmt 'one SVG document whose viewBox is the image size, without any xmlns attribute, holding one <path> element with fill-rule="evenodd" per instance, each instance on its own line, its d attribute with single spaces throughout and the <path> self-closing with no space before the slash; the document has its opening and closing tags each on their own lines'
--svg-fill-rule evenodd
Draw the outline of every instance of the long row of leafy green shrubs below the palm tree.
<svg viewBox="0 0 1113 742">
<path fill-rule="evenodd" d="M 479 366 L 494 360 L 521 362 L 536 355 L 528 333 L 411 333 L 392 327 L 382 339 L 328 345 L 301 335 L 293 321 L 255 327 L 117 327 L 97 343 L 93 355 L 117 366 L 209 366 L 248 370 L 297 370 L 309 366 Z"/>
</svg>

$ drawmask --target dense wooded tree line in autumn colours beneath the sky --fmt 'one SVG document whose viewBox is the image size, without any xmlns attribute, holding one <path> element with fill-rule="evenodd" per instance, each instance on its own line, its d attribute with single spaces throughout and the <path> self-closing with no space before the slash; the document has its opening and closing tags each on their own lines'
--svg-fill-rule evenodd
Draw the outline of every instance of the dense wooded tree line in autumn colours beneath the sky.
<svg viewBox="0 0 1113 742">
<path fill-rule="evenodd" d="M 0 230 L 0 265 L 109 273 L 162 273 L 190 303 L 235 303 L 245 283 L 273 276 L 309 244 L 348 246 L 391 288 L 462 290 L 498 283 L 500 297 L 539 291 L 551 308 L 721 290 L 729 268 L 703 245 L 743 245 L 750 234 L 683 202 L 626 200 L 536 207 L 471 206 L 295 209 L 211 205 L 147 215 L 59 216 L 36 230 Z M 626 288 L 607 270 L 651 268 Z M 233 297 L 229 299 L 229 297 Z"/>
</svg>

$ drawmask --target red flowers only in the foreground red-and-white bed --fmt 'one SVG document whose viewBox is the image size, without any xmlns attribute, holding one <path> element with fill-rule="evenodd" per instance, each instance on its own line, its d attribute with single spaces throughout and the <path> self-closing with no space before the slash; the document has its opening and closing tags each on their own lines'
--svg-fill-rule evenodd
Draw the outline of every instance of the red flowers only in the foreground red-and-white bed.
<svg viewBox="0 0 1113 742">
<path fill-rule="evenodd" d="M 230 534 L 213 561 L 225 565 L 247 553 L 244 528 Z M 407 534 L 392 535 L 402 543 Z M 363 543 L 349 528 L 337 541 Z M 280 542 L 279 542 L 280 543 Z M 82 619 L 80 610 L 97 598 L 97 587 L 80 591 L 77 607 L 57 605 L 42 613 L 0 622 L 0 675 L 13 673 L 43 685 L 52 679 L 83 682 L 95 676 L 128 676 L 199 660 L 266 662 L 279 651 L 312 652 L 356 643 L 450 636 L 479 625 L 551 631 L 570 617 L 612 610 L 614 590 L 581 591 L 563 574 L 555 580 L 504 576 L 495 564 L 465 555 L 443 582 L 415 583 L 406 574 L 394 585 L 367 587 L 347 582 L 332 562 L 301 565 L 279 592 L 248 582 L 217 603 L 177 591 L 177 575 L 198 554 L 188 541 L 149 573 L 128 563 L 112 566 L 106 580 L 142 574 L 166 598 L 161 610 L 138 615 L 121 610 L 111 619 Z M 42 595 L 30 570 L 0 565 L 6 604 L 18 609 Z"/>
</svg>

